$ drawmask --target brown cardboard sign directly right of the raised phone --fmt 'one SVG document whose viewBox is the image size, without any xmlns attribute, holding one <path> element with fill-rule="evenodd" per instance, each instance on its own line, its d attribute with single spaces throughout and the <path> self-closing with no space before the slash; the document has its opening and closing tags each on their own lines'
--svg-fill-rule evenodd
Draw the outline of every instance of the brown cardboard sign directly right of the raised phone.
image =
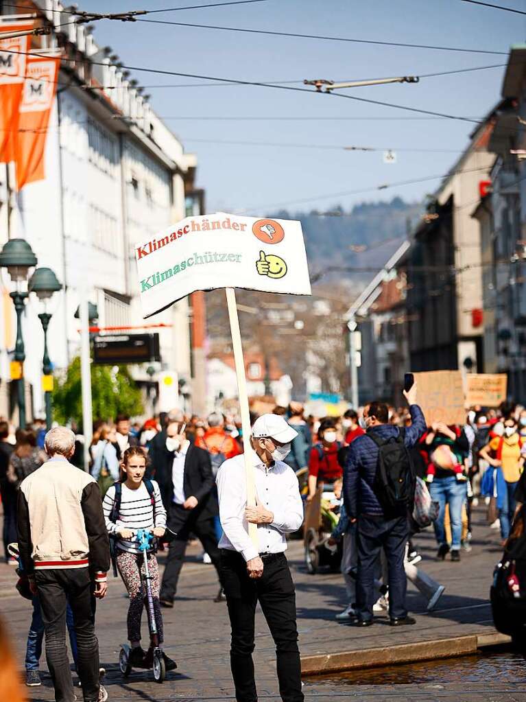
<svg viewBox="0 0 526 702">
<path fill-rule="evenodd" d="M 460 371 L 414 373 L 418 385 L 417 403 L 422 407 L 427 425 L 433 422 L 464 424 L 464 385 Z"/>
</svg>

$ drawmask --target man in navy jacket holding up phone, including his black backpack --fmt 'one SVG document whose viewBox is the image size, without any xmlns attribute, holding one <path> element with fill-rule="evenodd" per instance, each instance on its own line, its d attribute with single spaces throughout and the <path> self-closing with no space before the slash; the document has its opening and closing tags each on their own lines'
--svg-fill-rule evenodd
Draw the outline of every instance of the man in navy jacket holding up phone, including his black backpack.
<svg viewBox="0 0 526 702">
<path fill-rule="evenodd" d="M 375 570 L 384 548 L 389 571 L 391 626 L 414 624 L 407 616 L 405 547 L 409 540 L 408 512 L 414 503 L 414 470 L 408 449 L 426 430 L 422 409 L 416 404 L 417 384 L 404 391 L 410 406 L 411 426 L 389 424 L 389 408 L 372 402 L 363 411 L 366 434 L 352 442 L 344 470 L 344 505 L 356 522 L 358 574 L 357 616 L 349 623 L 370 626 L 376 600 Z"/>
</svg>

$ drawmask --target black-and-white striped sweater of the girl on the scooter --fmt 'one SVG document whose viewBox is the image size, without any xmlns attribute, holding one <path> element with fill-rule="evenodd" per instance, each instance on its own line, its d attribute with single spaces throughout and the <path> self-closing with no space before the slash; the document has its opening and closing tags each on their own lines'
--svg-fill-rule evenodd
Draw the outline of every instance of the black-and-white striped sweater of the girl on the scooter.
<svg viewBox="0 0 526 702">
<path fill-rule="evenodd" d="M 106 520 L 106 529 L 108 534 L 118 535 L 121 529 L 154 529 L 154 527 L 166 527 L 166 510 L 161 499 L 161 491 L 159 485 L 152 480 L 154 486 L 155 500 L 155 524 L 154 524 L 154 506 L 151 504 L 151 498 L 144 482 L 136 490 L 130 490 L 126 484 L 122 484 L 121 493 L 121 508 L 116 522 L 111 522 L 109 515 L 112 512 L 113 503 L 115 500 L 115 486 L 112 485 L 104 495 L 102 508 L 104 510 L 104 519 Z M 117 547 L 123 551 L 138 553 L 137 541 L 130 539 L 119 538 Z"/>
</svg>

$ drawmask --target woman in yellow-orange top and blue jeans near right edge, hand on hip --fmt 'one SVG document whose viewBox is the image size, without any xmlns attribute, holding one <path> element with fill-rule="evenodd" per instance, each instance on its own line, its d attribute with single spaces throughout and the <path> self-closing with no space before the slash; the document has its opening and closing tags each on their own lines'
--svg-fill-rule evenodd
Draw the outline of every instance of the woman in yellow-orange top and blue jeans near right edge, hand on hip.
<svg viewBox="0 0 526 702">
<path fill-rule="evenodd" d="M 511 522 L 515 512 L 515 488 L 519 482 L 524 458 L 521 456 L 522 438 L 519 435 L 517 424 L 513 417 L 504 420 L 504 433 L 501 437 L 494 437 L 487 446 L 480 451 L 480 457 L 497 469 L 494 480 L 497 482 L 497 507 L 501 522 L 501 537 L 506 541 L 510 535 Z M 499 480 L 498 471 L 501 471 L 504 481 Z"/>
</svg>

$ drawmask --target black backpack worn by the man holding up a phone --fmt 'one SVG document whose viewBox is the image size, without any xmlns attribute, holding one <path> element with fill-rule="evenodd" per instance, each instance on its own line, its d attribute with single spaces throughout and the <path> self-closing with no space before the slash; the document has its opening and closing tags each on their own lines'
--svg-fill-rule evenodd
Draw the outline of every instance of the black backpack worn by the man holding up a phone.
<svg viewBox="0 0 526 702">
<path fill-rule="evenodd" d="M 367 436 L 378 446 L 378 461 L 372 489 L 386 517 L 402 517 L 412 510 L 416 480 L 410 452 L 405 446 L 405 429 L 398 436 L 382 439 L 375 431 Z"/>
</svg>

